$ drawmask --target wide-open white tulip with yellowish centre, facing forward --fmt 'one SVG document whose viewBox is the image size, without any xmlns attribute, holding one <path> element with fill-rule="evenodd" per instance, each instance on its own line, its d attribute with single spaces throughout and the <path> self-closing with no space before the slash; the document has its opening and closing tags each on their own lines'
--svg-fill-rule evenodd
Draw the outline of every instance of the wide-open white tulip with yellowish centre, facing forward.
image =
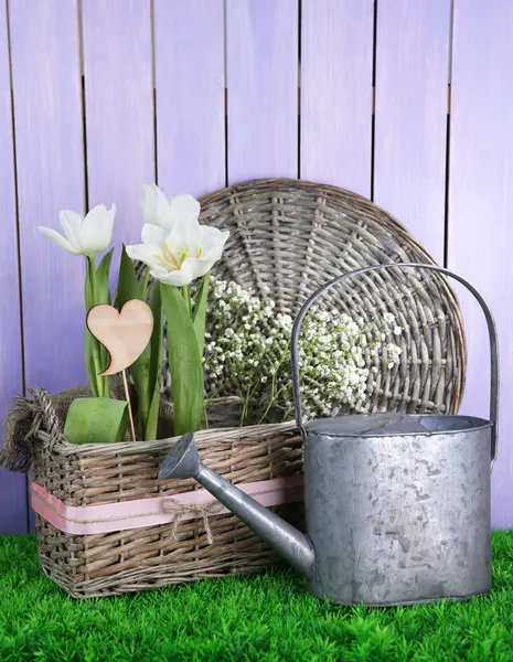
<svg viewBox="0 0 513 662">
<path fill-rule="evenodd" d="M 221 258 L 228 235 L 229 232 L 200 225 L 191 216 L 185 216 L 171 232 L 145 223 L 142 244 L 127 246 L 127 254 L 148 265 L 160 282 L 182 287 L 211 270 Z"/>
</svg>

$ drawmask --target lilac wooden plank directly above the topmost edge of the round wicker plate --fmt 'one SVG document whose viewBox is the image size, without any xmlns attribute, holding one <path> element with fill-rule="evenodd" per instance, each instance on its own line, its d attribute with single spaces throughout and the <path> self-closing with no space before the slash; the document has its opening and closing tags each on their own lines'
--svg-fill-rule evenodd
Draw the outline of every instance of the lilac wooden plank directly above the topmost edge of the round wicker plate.
<svg viewBox="0 0 513 662">
<path fill-rule="evenodd" d="M 228 181 L 298 175 L 298 0 L 227 0 Z"/>
</svg>

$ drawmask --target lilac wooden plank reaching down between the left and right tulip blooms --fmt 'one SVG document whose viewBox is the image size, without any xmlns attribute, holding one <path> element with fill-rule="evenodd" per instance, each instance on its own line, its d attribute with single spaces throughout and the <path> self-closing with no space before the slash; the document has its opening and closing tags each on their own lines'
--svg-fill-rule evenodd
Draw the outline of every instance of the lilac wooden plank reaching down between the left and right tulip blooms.
<svg viewBox="0 0 513 662">
<path fill-rule="evenodd" d="M 139 243 L 142 184 L 154 181 L 150 0 L 83 0 L 88 205 L 117 205 L 119 250 Z"/>
</svg>

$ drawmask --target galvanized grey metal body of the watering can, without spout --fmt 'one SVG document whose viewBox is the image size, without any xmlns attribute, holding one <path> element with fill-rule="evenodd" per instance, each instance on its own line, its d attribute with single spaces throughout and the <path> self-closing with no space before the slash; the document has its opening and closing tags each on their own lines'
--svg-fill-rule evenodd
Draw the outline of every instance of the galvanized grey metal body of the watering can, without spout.
<svg viewBox="0 0 513 662">
<path fill-rule="evenodd" d="M 308 590 L 381 606 L 487 592 L 490 433 L 491 424 L 423 437 L 309 431 Z"/>
</svg>

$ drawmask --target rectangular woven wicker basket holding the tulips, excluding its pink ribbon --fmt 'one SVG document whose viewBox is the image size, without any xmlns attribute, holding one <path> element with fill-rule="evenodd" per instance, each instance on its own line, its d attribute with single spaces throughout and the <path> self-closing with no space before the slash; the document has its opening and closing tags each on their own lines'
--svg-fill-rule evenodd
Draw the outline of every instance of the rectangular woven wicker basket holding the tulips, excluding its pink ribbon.
<svg viewBox="0 0 513 662">
<path fill-rule="evenodd" d="M 44 393 L 38 397 L 49 399 Z M 44 404 L 47 409 L 49 403 Z M 33 477 L 66 505 L 172 498 L 197 489 L 192 479 L 158 480 L 159 466 L 175 439 L 76 446 L 65 439 L 58 424 L 49 424 L 52 418 L 44 420 L 34 430 Z M 234 483 L 302 471 L 302 442 L 293 424 L 202 430 L 196 440 L 204 462 Z M 293 521 L 301 506 L 274 510 Z M 256 573 L 278 560 L 234 515 L 209 515 L 207 523 L 212 544 L 202 519 L 178 526 L 71 535 L 38 515 L 39 558 L 46 576 L 77 598 Z"/>
</svg>

